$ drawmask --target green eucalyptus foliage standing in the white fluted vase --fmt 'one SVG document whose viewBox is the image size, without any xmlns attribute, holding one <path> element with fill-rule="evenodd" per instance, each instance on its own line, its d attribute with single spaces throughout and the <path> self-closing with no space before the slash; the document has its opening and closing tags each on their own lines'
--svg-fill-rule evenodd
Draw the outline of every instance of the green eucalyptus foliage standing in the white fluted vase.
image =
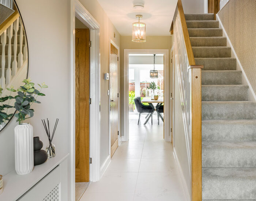
<svg viewBox="0 0 256 201">
<path fill-rule="evenodd" d="M 36 99 L 38 96 L 45 96 L 45 94 L 41 93 L 41 90 L 48 88 L 48 86 L 43 83 L 42 85 L 38 84 L 40 89 L 37 90 L 35 89 L 35 84 L 31 82 L 30 79 L 25 79 L 22 82 L 25 84 L 16 90 L 18 91 L 18 95 L 14 97 L 14 107 L 18 112 L 14 116 L 17 118 L 19 125 L 22 124 L 24 120 L 34 116 L 34 110 L 30 107 L 33 103 L 41 103 Z"/>
</svg>

